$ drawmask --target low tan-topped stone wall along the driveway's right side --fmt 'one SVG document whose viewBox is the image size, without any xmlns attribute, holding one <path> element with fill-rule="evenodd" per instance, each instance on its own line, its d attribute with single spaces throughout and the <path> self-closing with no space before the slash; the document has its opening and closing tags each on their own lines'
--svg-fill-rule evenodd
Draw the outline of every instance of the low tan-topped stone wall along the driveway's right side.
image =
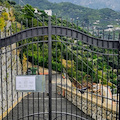
<svg viewBox="0 0 120 120">
<path fill-rule="evenodd" d="M 77 93 L 76 95 L 76 90 L 72 90 L 71 92 L 71 89 L 66 89 L 61 86 L 57 86 L 57 93 L 67 98 L 85 114 L 91 116 L 95 120 L 116 120 L 116 114 L 118 117 L 116 104 L 102 103 L 100 97 L 96 99 L 95 96 L 91 97 L 89 93 Z"/>
</svg>

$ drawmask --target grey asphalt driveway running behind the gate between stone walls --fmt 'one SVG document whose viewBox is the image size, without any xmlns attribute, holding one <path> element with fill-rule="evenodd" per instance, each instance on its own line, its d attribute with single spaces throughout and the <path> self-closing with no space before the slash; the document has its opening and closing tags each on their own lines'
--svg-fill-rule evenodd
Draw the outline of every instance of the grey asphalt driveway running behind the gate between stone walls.
<svg viewBox="0 0 120 120">
<path fill-rule="evenodd" d="M 60 77 L 60 75 L 58 76 Z M 53 81 L 55 81 L 55 77 L 53 76 Z M 47 82 L 46 82 L 47 85 Z M 52 93 L 52 120 L 92 120 L 90 117 L 85 115 L 83 112 L 81 112 L 79 109 L 76 108 L 71 102 L 63 98 L 62 96 L 56 94 L 56 85 L 53 84 L 53 93 Z M 12 111 L 8 115 L 8 120 L 18 120 L 19 118 L 22 118 L 22 116 L 27 116 L 29 112 L 29 117 L 22 118 L 21 120 L 48 120 L 48 111 L 49 111 L 49 99 L 47 93 L 31 93 L 30 95 L 24 97 L 23 101 L 21 101 L 14 109 L 13 109 L 13 117 L 12 117 Z M 67 109 L 66 109 L 67 107 Z M 64 115 L 62 114 L 56 114 L 58 113 L 67 113 L 69 114 L 76 114 L 81 116 L 85 119 L 80 119 L 76 117 L 72 117 L 71 115 Z M 42 113 L 46 113 L 43 115 Z M 19 114 L 17 114 L 19 113 Z M 32 114 L 34 113 L 34 116 Z M 37 113 L 41 113 L 41 115 L 37 115 Z M 57 119 L 55 119 L 57 117 Z M 4 118 L 4 120 L 7 120 L 7 117 Z"/>
</svg>

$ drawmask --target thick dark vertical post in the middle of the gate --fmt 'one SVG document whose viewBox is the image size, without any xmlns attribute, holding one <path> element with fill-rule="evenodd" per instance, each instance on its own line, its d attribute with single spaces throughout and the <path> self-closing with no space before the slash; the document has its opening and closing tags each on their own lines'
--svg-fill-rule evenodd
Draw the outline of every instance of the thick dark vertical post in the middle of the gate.
<svg viewBox="0 0 120 120">
<path fill-rule="evenodd" d="M 52 120 L 52 26 L 51 17 L 48 22 L 48 69 L 49 69 L 49 120 Z"/>
</svg>

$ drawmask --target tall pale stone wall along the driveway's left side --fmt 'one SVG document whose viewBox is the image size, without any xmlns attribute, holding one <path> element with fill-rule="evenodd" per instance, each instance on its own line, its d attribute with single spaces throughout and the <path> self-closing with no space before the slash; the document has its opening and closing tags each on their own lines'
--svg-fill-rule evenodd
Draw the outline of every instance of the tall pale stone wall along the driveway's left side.
<svg viewBox="0 0 120 120">
<path fill-rule="evenodd" d="M 15 47 L 15 44 L 13 44 L 12 49 Z M 6 113 L 10 112 L 10 108 L 14 107 L 17 104 L 17 100 L 19 99 L 20 101 L 22 97 L 21 93 L 17 97 L 15 90 L 17 74 L 21 74 L 21 63 L 18 55 L 16 55 L 16 50 L 10 52 L 10 46 L 6 47 L 6 49 L 2 48 L 0 50 L 0 119 L 2 118 L 2 113 L 3 117 L 5 117 Z"/>
</svg>

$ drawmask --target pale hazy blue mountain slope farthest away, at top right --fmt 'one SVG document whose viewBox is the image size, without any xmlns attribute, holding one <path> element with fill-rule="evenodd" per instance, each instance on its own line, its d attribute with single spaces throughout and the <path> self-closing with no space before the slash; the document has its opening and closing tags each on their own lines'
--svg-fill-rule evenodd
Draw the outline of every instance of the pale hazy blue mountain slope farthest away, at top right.
<svg viewBox="0 0 120 120">
<path fill-rule="evenodd" d="M 50 2 L 71 2 L 93 9 L 110 8 L 120 11 L 120 0 L 49 0 Z"/>
</svg>

